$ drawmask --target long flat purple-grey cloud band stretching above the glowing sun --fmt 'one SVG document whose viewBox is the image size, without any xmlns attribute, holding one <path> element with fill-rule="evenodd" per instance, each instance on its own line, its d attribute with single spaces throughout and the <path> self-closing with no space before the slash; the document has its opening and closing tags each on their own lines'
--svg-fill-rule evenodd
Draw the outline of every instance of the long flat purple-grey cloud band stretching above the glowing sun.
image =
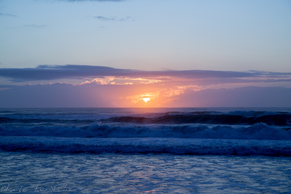
<svg viewBox="0 0 291 194">
<path fill-rule="evenodd" d="M 167 70 L 143 71 L 132 69 L 116 69 L 105 66 L 88 65 L 39 65 L 36 68 L 0 68 L 0 77 L 13 82 L 56 79 L 83 79 L 83 78 L 154 78 L 155 80 L 203 80 L 218 79 L 232 82 L 278 82 L 288 81 L 291 73 L 278 73 L 266 71 L 212 71 L 212 70 Z M 238 79 L 239 78 L 239 79 Z M 242 79 L 244 78 L 244 79 Z M 250 79 L 252 78 L 252 79 Z M 267 80 L 269 78 L 269 80 Z M 274 78 L 281 78 L 275 80 Z M 272 80 L 273 79 L 273 80 Z"/>
</svg>

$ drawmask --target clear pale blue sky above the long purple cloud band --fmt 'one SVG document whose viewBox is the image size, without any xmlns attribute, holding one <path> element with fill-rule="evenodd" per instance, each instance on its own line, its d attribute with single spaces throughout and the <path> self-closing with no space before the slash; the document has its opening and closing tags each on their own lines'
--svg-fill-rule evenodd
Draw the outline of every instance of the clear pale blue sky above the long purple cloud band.
<svg viewBox="0 0 291 194">
<path fill-rule="evenodd" d="M 0 68 L 291 72 L 290 1 L 0 1 Z"/>
</svg>

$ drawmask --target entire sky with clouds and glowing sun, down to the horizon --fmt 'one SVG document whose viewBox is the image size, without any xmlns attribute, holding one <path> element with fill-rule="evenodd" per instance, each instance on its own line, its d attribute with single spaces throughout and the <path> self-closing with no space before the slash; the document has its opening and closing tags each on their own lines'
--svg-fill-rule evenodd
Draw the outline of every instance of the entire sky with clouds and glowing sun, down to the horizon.
<svg viewBox="0 0 291 194">
<path fill-rule="evenodd" d="M 290 1 L 0 0 L 0 45 L 0 107 L 291 107 Z"/>
</svg>

